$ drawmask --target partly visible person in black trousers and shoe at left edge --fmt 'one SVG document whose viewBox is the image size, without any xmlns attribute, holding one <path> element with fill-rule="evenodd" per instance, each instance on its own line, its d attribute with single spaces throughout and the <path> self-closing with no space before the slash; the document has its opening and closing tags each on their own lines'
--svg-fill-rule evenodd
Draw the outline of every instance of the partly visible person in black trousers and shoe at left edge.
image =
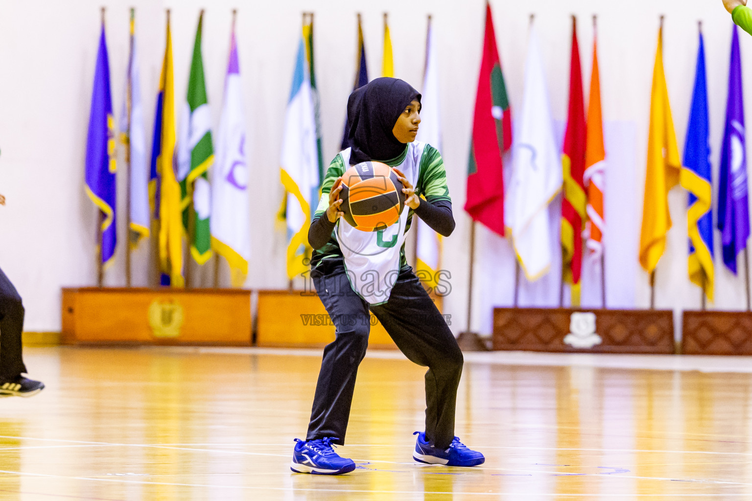
<svg viewBox="0 0 752 501">
<path fill-rule="evenodd" d="M 0 205 L 5 205 L 3 195 Z M 22 376 L 26 373 L 21 345 L 23 313 L 18 291 L 0 269 L 0 397 L 31 397 L 44 388 L 44 383 Z"/>
</svg>

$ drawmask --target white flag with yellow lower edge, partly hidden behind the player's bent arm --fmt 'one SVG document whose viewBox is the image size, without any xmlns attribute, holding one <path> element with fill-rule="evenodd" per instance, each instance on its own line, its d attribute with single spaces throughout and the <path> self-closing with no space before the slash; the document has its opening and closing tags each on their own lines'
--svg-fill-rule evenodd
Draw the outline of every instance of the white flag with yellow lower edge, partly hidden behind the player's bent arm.
<svg viewBox="0 0 752 501">
<path fill-rule="evenodd" d="M 420 128 L 416 140 L 429 143 L 441 152 L 441 121 L 438 116 L 438 57 L 431 28 L 431 17 L 428 19 L 428 33 L 426 35 L 426 69 L 423 74 L 423 89 L 421 89 Z M 423 271 L 421 279 L 429 287 L 436 286 L 438 270 L 441 266 L 441 237 L 433 231 L 423 219 L 417 218 L 417 246 L 416 270 Z M 420 276 L 420 275 L 419 275 Z M 428 279 L 428 280 L 424 280 Z"/>
</svg>

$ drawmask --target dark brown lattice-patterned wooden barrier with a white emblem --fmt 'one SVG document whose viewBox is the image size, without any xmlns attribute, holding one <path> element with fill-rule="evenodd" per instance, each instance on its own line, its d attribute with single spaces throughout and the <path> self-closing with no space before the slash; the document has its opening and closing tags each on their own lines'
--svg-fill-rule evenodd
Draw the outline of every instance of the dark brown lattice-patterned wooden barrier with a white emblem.
<svg viewBox="0 0 752 501">
<path fill-rule="evenodd" d="M 494 308 L 493 349 L 533 352 L 675 352 L 671 310 Z"/>
</svg>

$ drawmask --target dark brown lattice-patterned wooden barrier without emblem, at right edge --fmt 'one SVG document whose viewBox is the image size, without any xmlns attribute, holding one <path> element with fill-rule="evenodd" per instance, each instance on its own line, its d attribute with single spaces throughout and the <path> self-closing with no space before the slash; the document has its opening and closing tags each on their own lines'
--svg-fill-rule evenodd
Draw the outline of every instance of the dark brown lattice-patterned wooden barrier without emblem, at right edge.
<svg viewBox="0 0 752 501">
<path fill-rule="evenodd" d="M 681 352 L 752 355 L 752 312 L 684 312 Z"/>
</svg>

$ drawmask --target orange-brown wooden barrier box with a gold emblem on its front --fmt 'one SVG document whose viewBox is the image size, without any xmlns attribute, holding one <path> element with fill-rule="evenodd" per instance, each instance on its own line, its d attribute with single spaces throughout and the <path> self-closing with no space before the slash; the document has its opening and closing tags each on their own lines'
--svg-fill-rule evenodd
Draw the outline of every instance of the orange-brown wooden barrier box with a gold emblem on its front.
<svg viewBox="0 0 752 501">
<path fill-rule="evenodd" d="M 63 288 L 62 343 L 250 346 L 250 291 Z"/>
</svg>

